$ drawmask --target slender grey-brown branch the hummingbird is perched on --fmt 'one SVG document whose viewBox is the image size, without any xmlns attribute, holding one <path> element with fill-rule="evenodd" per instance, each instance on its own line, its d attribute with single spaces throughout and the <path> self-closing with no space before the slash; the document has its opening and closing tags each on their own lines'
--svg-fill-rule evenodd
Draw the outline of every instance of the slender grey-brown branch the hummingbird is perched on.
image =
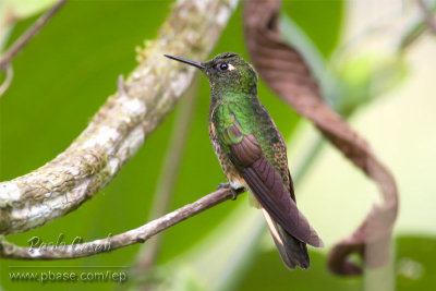
<svg viewBox="0 0 436 291">
<path fill-rule="evenodd" d="M 241 194 L 242 192 L 243 191 L 238 191 L 238 194 Z M 232 197 L 232 191 L 230 189 L 219 189 L 203 198 L 199 198 L 193 204 L 185 205 L 182 208 L 169 213 L 140 228 L 87 243 L 52 245 L 45 247 L 24 247 L 16 246 L 0 237 L 0 257 L 12 259 L 50 260 L 86 257 L 111 252 L 135 243 L 144 243 L 157 233 Z"/>
</svg>

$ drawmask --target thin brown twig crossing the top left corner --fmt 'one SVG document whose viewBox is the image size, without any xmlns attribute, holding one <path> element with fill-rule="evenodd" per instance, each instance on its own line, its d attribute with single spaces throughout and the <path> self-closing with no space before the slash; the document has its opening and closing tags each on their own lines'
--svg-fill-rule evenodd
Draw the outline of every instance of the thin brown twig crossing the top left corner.
<svg viewBox="0 0 436 291">
<path fill-rule="evenodd" d="M 0 70 L 4 69 L 20 50 L 43 28 L 44 25 L 63 7 L 68 0 L 60 0 L 41 15 L 0 58 Z"/>
</svg>

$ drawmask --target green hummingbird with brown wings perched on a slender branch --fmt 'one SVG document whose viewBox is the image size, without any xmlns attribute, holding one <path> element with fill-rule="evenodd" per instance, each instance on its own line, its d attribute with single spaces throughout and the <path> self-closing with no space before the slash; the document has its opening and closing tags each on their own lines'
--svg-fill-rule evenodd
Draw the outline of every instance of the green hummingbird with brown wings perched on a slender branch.
<svg viewBox="0 0 436 291">
<path fill-rule="evenodd" d="M 225 52 L 207 62 L 165 54 L 199 69 L 210 84 L 209 137 L 232 189 L 250 190 L 261 208 L 289 269 L 308 268 L 306 244 L 323 247 L 323 240 L 296 208 L 287 146 L 257 97 L 257 73 L 238 53 Z"/>
</svg>

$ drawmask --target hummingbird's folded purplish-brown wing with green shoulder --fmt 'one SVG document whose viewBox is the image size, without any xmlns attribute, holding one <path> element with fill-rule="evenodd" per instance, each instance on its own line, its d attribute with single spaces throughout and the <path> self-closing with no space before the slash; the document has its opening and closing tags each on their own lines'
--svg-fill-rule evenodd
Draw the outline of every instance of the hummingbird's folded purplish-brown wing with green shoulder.
<svg viewBox="0 0 436 291">
<path fill-rule="evenodd" d="M 323 241 L 296 208 L 280 174 L 262 151 L 253 133 L 247 133 L 234 118 L 230 126 L 218 133 L 232 163 L 241 171 L 250 190 L 271 218 L 298 240 L 313 246 Z"/>
</svg>

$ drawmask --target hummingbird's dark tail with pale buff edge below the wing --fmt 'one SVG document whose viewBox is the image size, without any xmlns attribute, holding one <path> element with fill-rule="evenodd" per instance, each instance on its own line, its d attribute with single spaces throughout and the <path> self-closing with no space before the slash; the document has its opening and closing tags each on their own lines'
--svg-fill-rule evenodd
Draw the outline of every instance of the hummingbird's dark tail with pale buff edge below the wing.
<svg viewBox="0 0 436 291">
<path fill-rule="evenodd" d="M 307 269 L 311 260 L 306 244 L 289 234 L 280 225 L 272 220 L 264 208 L 262 210 L 284 265 L 289 269 L 294 269 L 295 266 Z"/>
</svg>

